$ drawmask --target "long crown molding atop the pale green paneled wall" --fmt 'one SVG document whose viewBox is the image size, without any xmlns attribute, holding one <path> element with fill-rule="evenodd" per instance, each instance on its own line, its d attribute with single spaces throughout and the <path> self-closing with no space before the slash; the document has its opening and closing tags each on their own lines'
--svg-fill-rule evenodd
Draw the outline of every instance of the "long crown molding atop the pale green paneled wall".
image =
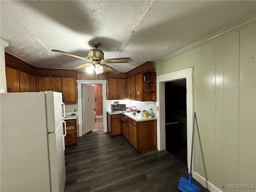
<svg viewBox="0 0 256 192">
<path fill-rule="evenodd" d="M 183 48 L 181 50 L 178 50 L 177 52 L 174 52 L 174 53 L 172 53 L 172 54 L 170 54 L 170 55 L 168 55 L 168 56 L 158 60 L 156 63 L 165 62 L 167 60 L 170 60 L 171 58 L 179 56 L 179 55 L 181 55 L 181 54 L 183 54 L 185 52 L 188 52 L 188 51 L 190 51 L 190 50 L 192 50 L 194 48 L 197 48 L 199 46 L 202 46 L 204 44 L 212 42 L 212 41 L 214 41 L 216 39 L 222 38 L 222 37 L 224 37 L 224 36 L 226 36 L 228 34 L 231 34 L 233 32 L 241 30 L 242 28 L 248 27 L 248 26 L 250 26 L 252 24 L 255 24 L 255 23 L 256 23 L 256 17 L 253 17 L 253 18 L 250 18 L 249 20 L 247 20 L 246 22 L 243 21 L 243 22 L 240 22 L 240 23 L 235 24 L 233 26 L 230 26 L 228 28 L 225 28 L 224 30 L 221 30 L 220 32 L 217 32 L 216 34 L 213 34 L 212 36 L 210 36 L 208 38 L 200 40 L 200 41 L 198 41 L 198 42 L 196 42 L 196 43 L 194 43 L 194 44 L 192 44 L 190 46 L 187 46 L 187 47 L 185 47 L 185 48 Z"/>
</svg>

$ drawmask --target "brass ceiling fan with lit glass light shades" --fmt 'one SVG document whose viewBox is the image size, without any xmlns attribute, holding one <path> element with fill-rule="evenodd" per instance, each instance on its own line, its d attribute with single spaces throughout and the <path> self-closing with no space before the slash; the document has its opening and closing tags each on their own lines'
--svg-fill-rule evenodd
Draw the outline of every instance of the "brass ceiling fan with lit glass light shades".
<svg viewBox="0 0 256 192">
<path fill-rule="evenodd" d="M 84 58 L 78 55 L 74 55 L 71 53 L 67 53 L 60 50 L 52 50 L 57 53 L 65 54 L 68 56 L 72 56 L 78 59 L 82 59 L 85 61 L 90 61 L 91 63 L 82 64 L 76 67 L 71 68 L 70 70 L 77 70 L 82 67 L 86 67 L 91 73 L 93 73 L 93 70 L 96 74 L 102 74 L 103 70 L 106 69 L 109 72 L 113 74 L 118 74 L 119 72 L 115 70 L 114 68 L 106 65 L 108 63 L 132 63 L 132 59 L 129 57 L 122 57 L 122 58 L 112 58 L 112 59 L 104 59 L 104 52 L 102 50 L 99 50 L 98 47 L 100 46 L 99 42 L 92 42 L 92 46 L 95 47 L 95 49 L 90 49 L 88 51 L 88 58 Z"/>
</svg>

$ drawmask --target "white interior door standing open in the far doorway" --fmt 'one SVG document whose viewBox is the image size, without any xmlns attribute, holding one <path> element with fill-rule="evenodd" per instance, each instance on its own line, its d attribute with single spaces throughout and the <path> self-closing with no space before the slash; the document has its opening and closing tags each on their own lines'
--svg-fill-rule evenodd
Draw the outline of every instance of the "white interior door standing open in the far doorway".
<svg viewBox="0 0 256 192">
<path fill-rule="evenodd" d="M 91 131 L 95 126 L 94 107 L 94 86 L 82 84 L 83 135 Z"/>
</svg>

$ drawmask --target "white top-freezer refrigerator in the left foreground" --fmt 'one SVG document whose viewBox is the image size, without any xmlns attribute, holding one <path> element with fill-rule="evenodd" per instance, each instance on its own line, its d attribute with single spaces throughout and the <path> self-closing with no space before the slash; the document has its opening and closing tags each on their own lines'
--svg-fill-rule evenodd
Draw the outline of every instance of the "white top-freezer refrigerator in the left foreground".
<svg viewBox="0 0 256 192">
<path fill-rule="evenodd" d="M 0 94 L 0 191 L 64 191 L 64 116 L 62 93 Z"/>
</svg>

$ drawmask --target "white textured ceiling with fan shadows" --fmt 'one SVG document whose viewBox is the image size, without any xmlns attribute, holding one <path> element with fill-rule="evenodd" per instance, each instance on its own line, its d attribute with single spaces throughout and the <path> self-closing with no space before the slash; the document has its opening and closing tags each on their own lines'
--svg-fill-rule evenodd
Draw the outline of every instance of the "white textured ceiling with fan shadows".
<svg viewBox="0 0 256 192">
<path fill-rule="evenodd" d="M 88 58 L 92 41 L 105 58 L 130 57 L 131 64 L 109 64 L 127 72 L 157 61 L 229 26 L 256 16 L 256 1 L 181 0 L 1 0 L 1 39 L 6 51 L 39 68 L 69 69 Z M 83 69 L 82 69 L 83 70 Z"/>
</svg>

